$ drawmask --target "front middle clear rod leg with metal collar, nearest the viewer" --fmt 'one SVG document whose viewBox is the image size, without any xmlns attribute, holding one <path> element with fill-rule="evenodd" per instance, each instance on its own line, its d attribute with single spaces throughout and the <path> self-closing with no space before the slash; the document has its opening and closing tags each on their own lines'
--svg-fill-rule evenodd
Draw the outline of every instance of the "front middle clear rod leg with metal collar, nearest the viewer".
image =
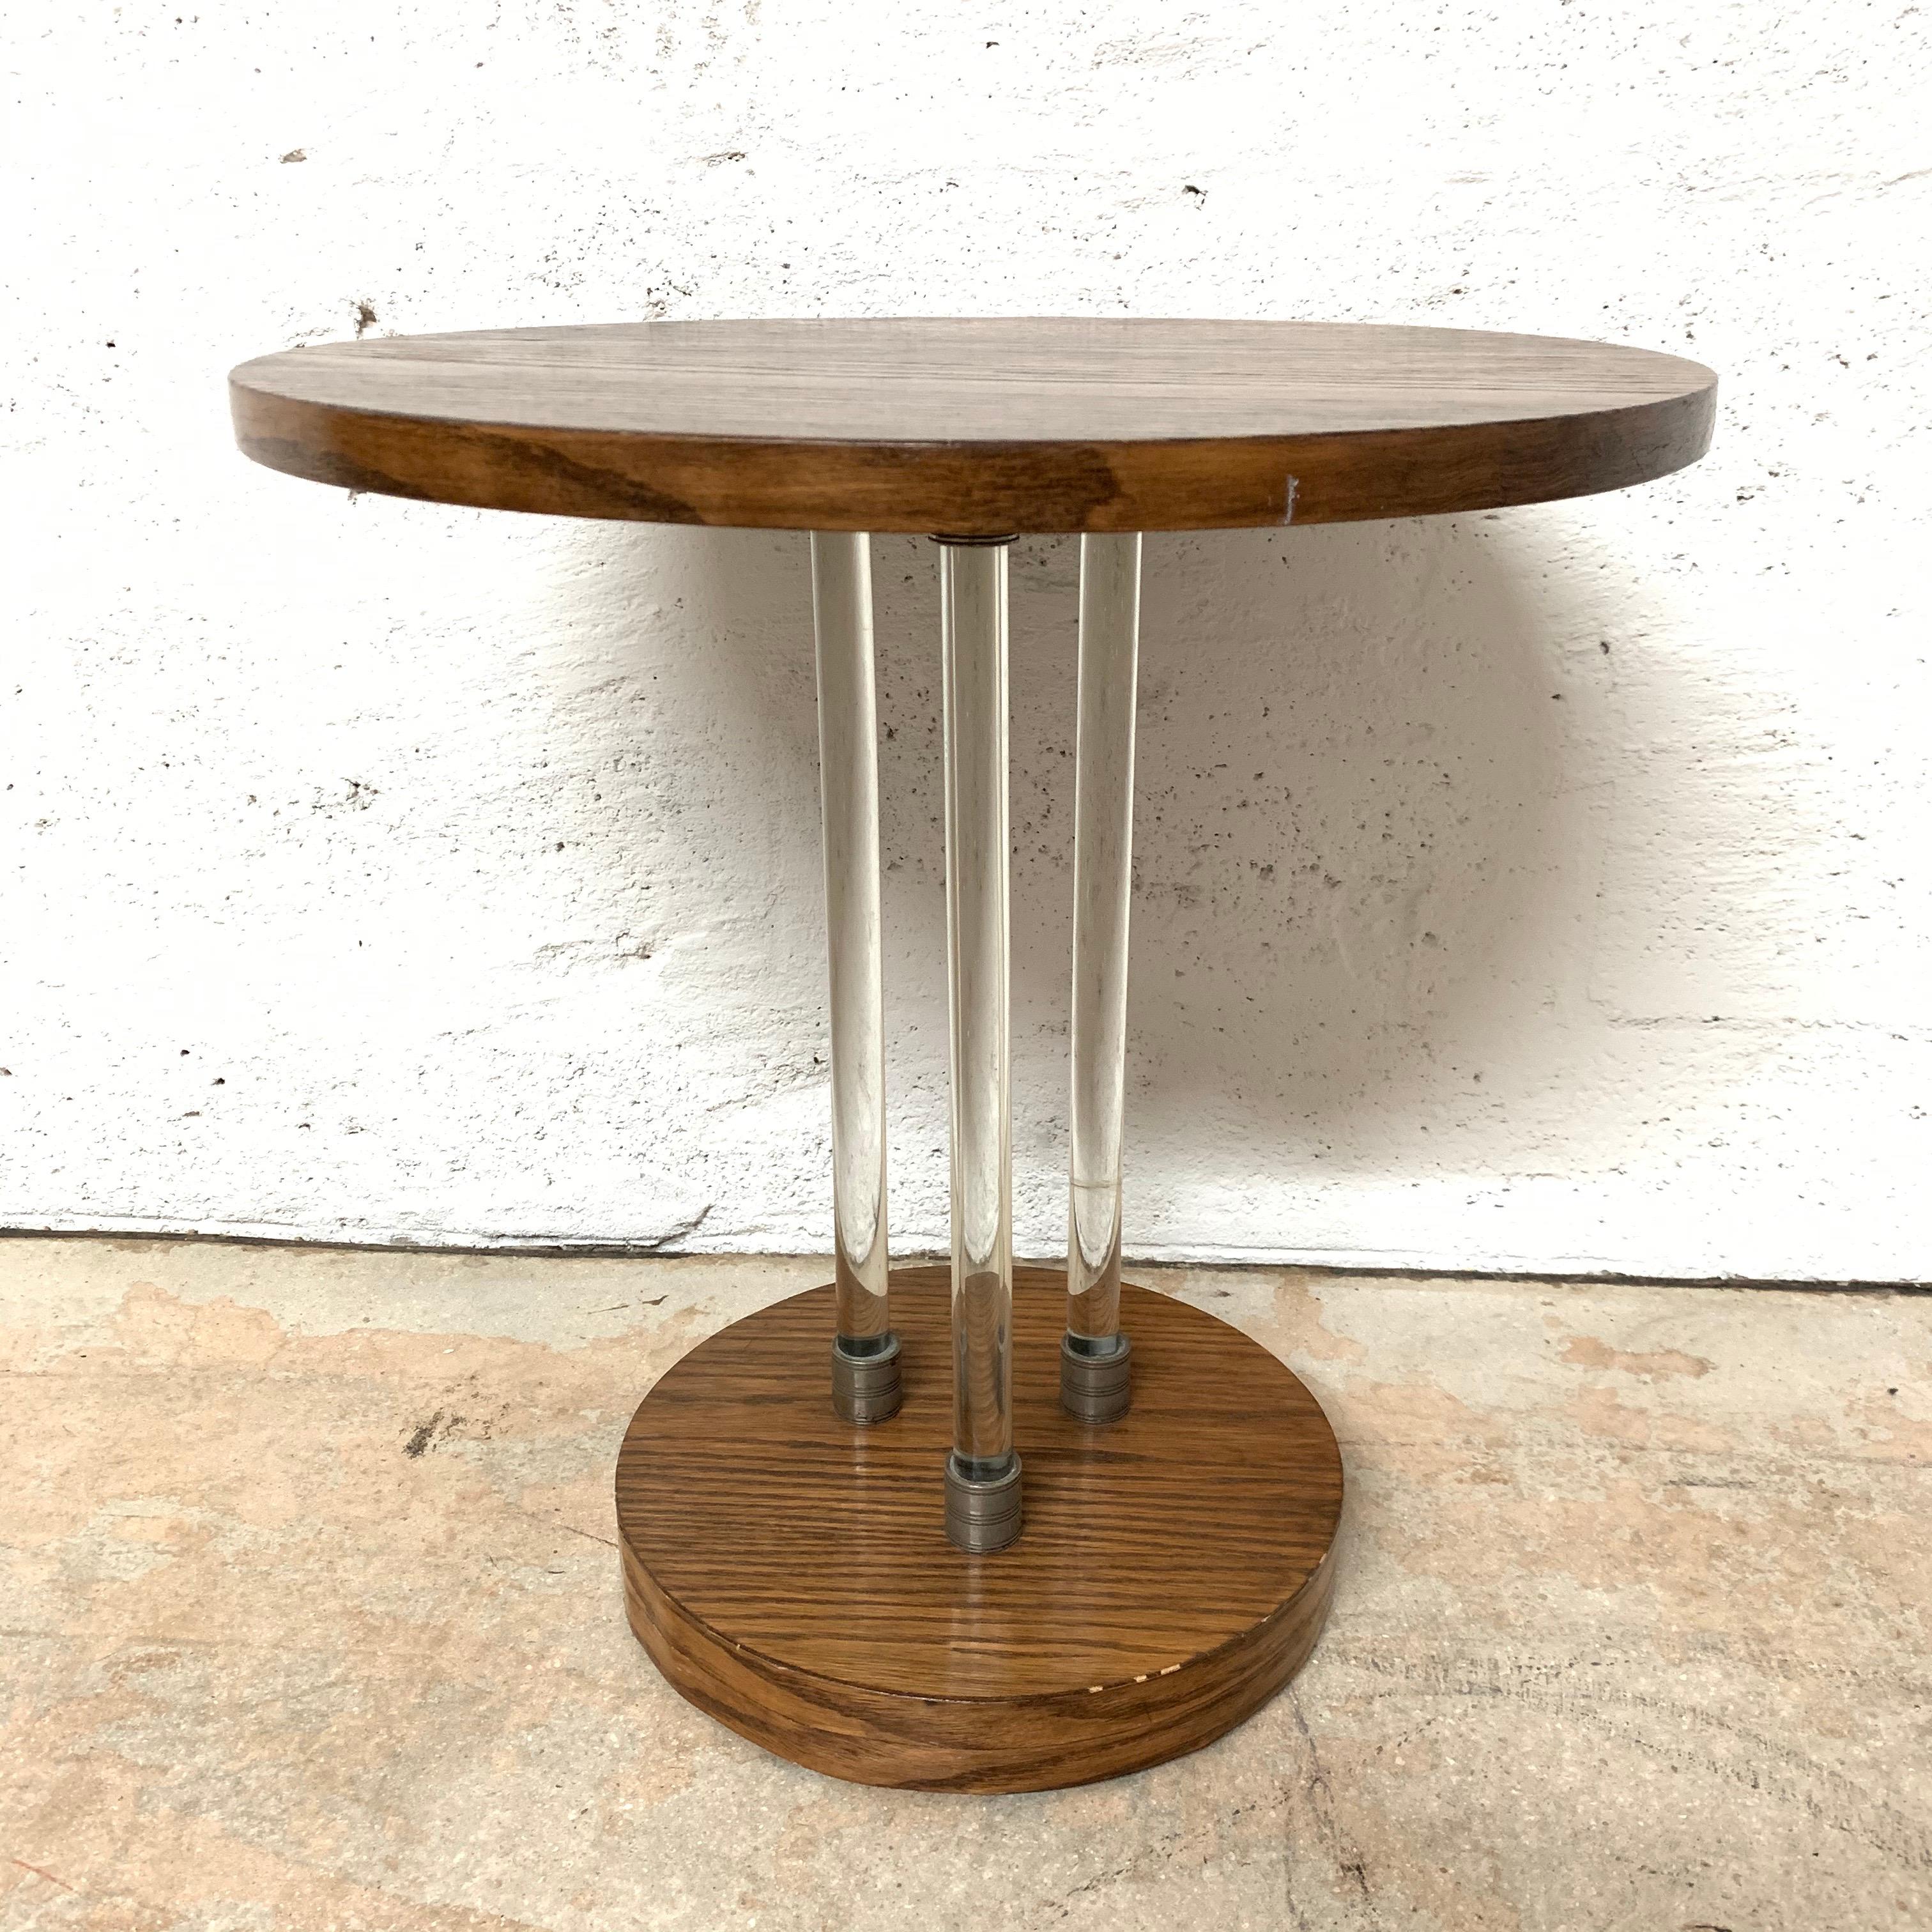
<svg viewBox="0 0 1932 1932">
<path fill-rule="evenodd" d="M 1009 1103 L 1007 545 L 939 539 L 947 769 L 947 1005 L 952 1059 L 952 1453 L 947 1534 L 1020 1534 L 1012 1449 Z"/>
</svg>

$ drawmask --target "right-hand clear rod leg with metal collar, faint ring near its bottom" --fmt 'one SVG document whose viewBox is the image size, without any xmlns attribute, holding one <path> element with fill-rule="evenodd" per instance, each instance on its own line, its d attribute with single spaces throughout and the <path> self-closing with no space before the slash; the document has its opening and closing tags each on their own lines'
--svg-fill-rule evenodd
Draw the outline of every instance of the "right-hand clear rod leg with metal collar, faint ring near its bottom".
<svg viewBox="0 0 1932 1932">
<path fill-rule="evenodd" d="M 1080 539 L 1074 740 L 1074 991 L 1068 1103 L 1066 1335 L 1061 1405 L 1113 1422 L 1132 1399 L 1121 1329 L 1121 1117 L 1126 925 L 1134 871 L 1140 537 Z"/>
</svg>

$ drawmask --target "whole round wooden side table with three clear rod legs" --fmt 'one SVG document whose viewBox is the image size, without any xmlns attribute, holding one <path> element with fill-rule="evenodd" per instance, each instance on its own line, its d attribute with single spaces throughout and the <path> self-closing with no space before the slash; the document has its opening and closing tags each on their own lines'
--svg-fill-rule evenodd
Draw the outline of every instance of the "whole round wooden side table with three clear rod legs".
<svg viewBox="0 0 1932 1932">
<path fill-rule="evenodd" d="M 1314 1648 L 1343 1474 L 1308 1389 L 1121 1281 L 1140 533 L 1621 489 L 1710 442 L 1644 350 L 1184 321 L 638 323 L 290 350 L 257 462 L 553 516 L 811 531 L 833 1269 L 709 1337 L 616 1466 L 624 1604 L 692 1702 L 867 1783 L 1194 1750 Z M 869 531 L 939 545 L 951 1267 L 889 1267 Z M 1012 1262 L 1007 547 L 1080 533 L 1068 1265 Z"/>
</svg>

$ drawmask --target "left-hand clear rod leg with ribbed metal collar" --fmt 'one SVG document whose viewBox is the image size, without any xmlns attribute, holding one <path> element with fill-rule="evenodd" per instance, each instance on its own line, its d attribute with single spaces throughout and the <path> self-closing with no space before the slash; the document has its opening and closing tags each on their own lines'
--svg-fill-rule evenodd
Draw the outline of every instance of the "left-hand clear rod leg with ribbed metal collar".
<svg viewBox="0 0 1932 1932">
<path fill-rule="evenodd" d="M 819 665 L 819 800 L 833 1059 L 833 1406 L 846 1422 L 898 1410 L 887 1310 L 885 970 L 879 941 L 879 717 L 871 665 L 871 539 L 811 535 Z"/>
</svg>

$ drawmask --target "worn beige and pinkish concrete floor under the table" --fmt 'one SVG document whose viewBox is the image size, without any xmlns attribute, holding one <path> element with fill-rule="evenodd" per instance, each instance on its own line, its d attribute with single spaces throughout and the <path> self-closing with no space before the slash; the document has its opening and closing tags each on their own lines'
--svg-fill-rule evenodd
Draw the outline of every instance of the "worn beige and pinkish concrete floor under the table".
<svg viewBox="0 0 1932 1932">
<path fill-rule="evenodd" d="M 1932 1296 L 1134 1273 L 1327 1405 L 1333 1621 L 1194 1758 L 951 1799 L 618 1604 L 632 1406 L 823 1264 L 0 1240 L 0 1924 L 1932 1924 Z"/>
</svg>

